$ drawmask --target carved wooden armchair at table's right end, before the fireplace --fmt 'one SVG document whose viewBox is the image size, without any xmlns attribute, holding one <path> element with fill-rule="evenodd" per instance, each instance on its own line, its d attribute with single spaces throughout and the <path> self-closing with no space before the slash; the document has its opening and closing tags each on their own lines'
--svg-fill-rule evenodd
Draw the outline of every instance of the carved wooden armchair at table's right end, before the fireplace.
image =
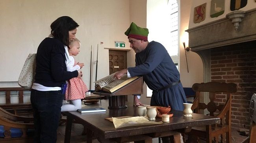
<svg viewBox="0 0 256 143">
<path fill-rule="evenodd" d="M 200 110 L 207 109 L 210 112 L 208 115 L 219 117 L 221 119 L 220 124 L 208 127 L 193 127 L 191 132 L 188 134 L 189 141 L 191 141 L 191 135 L 193 137 L 193 143 L 198 142 L 198 138 L 206 138 L 206 142 L 210 143 L 214 138 L 214 141 L 219 142 L 224 140 L 223 136 L 226 135 L 226 143 L 231 143 L 231 93 L 237 91 L 237 85 L 235 83 L 218 83 L 218 82 L 208 82 L 208 83 L 195 83 L 192 89 L 196 92 L 196 98 L 193 101 L 191 107 L 196 113 L 200 113 Z M 210 102 L 200 103 L 200 93 L 208 92 Z M 226 101 L 224 105 L 215 102 L 216 94 L 226 95 Z M 219 110 L 219 111 L 217 111 Z M 217 111 L 217 112 L 216 112 Z M 206 129 L 207 128 L 207 129 Z M 220 137 L 220 138 L 219 138 Z"/>
</svg>

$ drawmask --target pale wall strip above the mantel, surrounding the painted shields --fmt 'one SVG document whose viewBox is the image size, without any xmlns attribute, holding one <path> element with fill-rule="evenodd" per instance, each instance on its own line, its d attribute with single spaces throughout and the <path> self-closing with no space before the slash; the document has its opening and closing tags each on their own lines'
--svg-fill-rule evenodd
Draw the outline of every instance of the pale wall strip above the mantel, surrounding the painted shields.
<svg viewBox="0 0 256 143">
<path fill-rule="evenodd" d="M 205 17 L 205 20 L 200 22 L 199 24 L 198 23 L 195 24 L 193 22 L 195 7 L 197 7 L 201 4 L 204 4 L 204 3 L 206 3 L 206 17 Z M 193 0 L 192 1 L 191 11 L 190 11 L 191 13 L 190 13 L 190 20 L 189 20 L 189 28 L 197 27 L 199 25 L 206 24 L 208 22 L 212 22 L 212 21 L 215 21 L 215 20 L 219 20 L 221 18 L 225 18 L 226 14 L 232 12 L 232 11 L 230 11 L 230 0 L 225 0 L 225 11 L 224 11 L 224 13 L 222 15 L 218 16 L 218 17 L 211 18 L 210 17 L 210 10 L 211 10 L 210 6 L 211 6 L 211 0 Z M 249 9 L 254 9 L 255 7 L 256 7 L 255 0 L 247 0 L 247 5 L 243 8 L 241 8 L 241 9 L 239 9 L 239 11 L 247 11 Z"/>
</svg>

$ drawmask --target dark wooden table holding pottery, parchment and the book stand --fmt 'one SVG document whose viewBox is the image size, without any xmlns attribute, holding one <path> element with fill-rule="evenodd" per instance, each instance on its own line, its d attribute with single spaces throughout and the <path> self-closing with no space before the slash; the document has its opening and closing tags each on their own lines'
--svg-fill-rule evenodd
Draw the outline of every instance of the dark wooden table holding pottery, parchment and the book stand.
<svg viewBox="0 0 256 143">
<path fill-rule="evenodd" d="M 133 137 L 136 135 L 165 132 L 176 129 L 186 129 L 189 127 L 211 125 L 220 123 L 219 118 L 205 116 L 201 114 L 192 114 L 193 117 L 184 117 L 182 111 L 172 110 L 173 117 L 169 122 L 164 122 L 157 125 L 133 126 L 115 129 L 114 124 L 106 120 L 109 117 L 120 116 L 138 116 L 137 107 L 132 106 L 132 103 L 127 102 L 126 109 L 108 109 L 108 100 L 102 100 L 102 108 L 106 112 L 80 113 L 77 111 L 65 112 L 67 114 L 67 124 L 65 130 L 65 143 L 70 142 L 70 134 L 72 120 L 80 121 L 88 128 L 87 143 L 92 143 L 92 132 L 96 134 L 100 141 L 109 142 L 120 137 Z M 91 107 L 100 107 L 99 104 L 94 104 Z M 89 107 L 89 108 L 91 108 Z M 161 121 L 161 118 L 156 118 L 156 121 Z"/>
</svg>

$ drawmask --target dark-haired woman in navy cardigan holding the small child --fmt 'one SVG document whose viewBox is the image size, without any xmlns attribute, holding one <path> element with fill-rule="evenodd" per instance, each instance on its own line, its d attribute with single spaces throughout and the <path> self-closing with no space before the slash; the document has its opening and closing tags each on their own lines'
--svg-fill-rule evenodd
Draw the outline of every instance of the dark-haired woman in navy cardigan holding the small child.
<svg viewBox="0 0 256 143">
<path fill-rule="evenodd" d="M 68 72 L 65 46 L 76 38 L 79 25 L 69 16 L 59 17 L 51 24 L 50 37 L 37 49 L 35 81 L 30 100 L 33 107 L 34 143 L 56 143 L 66 80 L 81 78 L 82 72 Z"/>
</svg>

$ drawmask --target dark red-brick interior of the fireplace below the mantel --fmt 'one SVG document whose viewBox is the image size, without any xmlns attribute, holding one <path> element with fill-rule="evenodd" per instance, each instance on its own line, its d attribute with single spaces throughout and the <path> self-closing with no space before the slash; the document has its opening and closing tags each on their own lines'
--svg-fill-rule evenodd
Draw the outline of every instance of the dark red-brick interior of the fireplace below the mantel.
<svg viewBox="0 0 256 143">
<path fill-rule="evenodd" d="M 249 129 L 249 105 L 256 92 L 256 40 L 211 49 L 211 81 L 236 83 L 232 94 L 232 127 Z M 217 95 L 224 104 L 226 97 Z"/>
</svg>

